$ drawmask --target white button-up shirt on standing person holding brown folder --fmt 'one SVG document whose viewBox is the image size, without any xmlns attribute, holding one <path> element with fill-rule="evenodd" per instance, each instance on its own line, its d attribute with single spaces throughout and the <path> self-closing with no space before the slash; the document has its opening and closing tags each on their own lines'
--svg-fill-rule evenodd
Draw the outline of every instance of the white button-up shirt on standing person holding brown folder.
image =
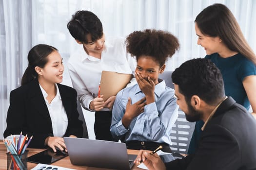
<svg viewBox="0 0 256 170">
<path fill-rule="evenodd" d="M 90 110 L 90 102 L 98 96 L 102 70 L 132 74 L 135 67 L 136 61 L 126 52 L 123 38 L 106 39 L 105 50 L 101 52 L 101 59 L 89 56 L 81 45 L 71 55 L 68 63 L 73 87 L 77 90 L 78 99 L 86 110 Z M 102 111 L 106 110 L 109 109 L 102 109 Z"/>
</svg>

